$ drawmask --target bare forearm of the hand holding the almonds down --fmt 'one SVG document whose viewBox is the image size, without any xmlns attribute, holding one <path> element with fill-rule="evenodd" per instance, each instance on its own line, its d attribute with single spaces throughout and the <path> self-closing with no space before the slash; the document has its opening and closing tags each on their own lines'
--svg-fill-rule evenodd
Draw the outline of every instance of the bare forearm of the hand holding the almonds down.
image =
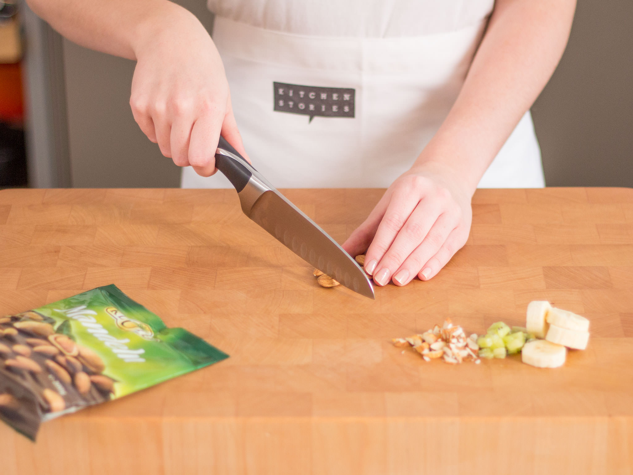
<svg viewBox="0 0 633 475">
<path fill-rule="evenodd" d="M 497 0 L 484 39 L 448 117 L 415 167 L 448 167 L 477 183 L 554 72 L 575 0 Z"/>
</svg>

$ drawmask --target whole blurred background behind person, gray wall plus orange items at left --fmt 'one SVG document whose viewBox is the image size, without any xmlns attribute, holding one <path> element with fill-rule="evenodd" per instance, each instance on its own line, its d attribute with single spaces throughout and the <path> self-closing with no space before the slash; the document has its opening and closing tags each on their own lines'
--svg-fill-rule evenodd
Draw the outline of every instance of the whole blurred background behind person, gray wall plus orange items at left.
<svg viewBox="0 0 633 475">
<path fill-rule="evenodd" d="M 211 30 L 204 0 L 176 3 Z M 632 0 L 579 0 L 532 108 L 548 186 L 633 187 L 632 28 Z M 0 0 L 0 187 L 179 186 L 180 169 L 134 122 L 133 73 L 62 39 L 22 0 Z"/>
</svg>

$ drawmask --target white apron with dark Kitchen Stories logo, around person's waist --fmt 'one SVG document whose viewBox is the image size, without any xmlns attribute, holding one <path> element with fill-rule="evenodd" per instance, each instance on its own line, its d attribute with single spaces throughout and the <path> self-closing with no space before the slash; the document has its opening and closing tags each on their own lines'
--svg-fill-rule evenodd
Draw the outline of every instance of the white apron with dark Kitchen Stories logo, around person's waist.
<svg viewBox="0 0 633 475">
<path fill-rule="evenodd" d="M 321 37 L 216 16 L 213 41 L 244 147 L 268 181 L 280 188 L 388 187 L 448 115 L 485 26 L 483 20 L 413 37 Z M 479 186 L 544 186 L 529 112 Z M 187 167 L 182 187 L 231 185 L 219 172 L 204 178 Z"/>
</svg>

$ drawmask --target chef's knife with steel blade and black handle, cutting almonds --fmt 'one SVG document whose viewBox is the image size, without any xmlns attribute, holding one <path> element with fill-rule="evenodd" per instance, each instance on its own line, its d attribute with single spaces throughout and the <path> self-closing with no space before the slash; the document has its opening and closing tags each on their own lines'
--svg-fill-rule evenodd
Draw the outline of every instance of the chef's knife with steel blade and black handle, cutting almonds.
<svg viewBox="0 0 633 475">
<path fill-rule="evenodd" d="M 374 298 L 365 271 L 323 229 L 287 200 L 223 137 L 215 166 L 237 190 L 242 211 L 306 262 L 361 295 Z"/>
</svg>

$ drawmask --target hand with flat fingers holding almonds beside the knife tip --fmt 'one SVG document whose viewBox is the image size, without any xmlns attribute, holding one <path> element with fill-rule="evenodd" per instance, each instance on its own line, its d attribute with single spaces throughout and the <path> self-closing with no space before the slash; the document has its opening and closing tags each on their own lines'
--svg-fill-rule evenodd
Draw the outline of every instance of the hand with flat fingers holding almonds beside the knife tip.
<svg viewBox="0 0 633 475">
<path fill-rule="evenodd" d="M 448 170 L 420 166 L 387 189 L 343 248 L 352 256 L 365 250 L 365 270 L 384 286 L 404 286 L 418 276 L 435 276 L 466 243 L 472 192 Z"/>
</svg>

